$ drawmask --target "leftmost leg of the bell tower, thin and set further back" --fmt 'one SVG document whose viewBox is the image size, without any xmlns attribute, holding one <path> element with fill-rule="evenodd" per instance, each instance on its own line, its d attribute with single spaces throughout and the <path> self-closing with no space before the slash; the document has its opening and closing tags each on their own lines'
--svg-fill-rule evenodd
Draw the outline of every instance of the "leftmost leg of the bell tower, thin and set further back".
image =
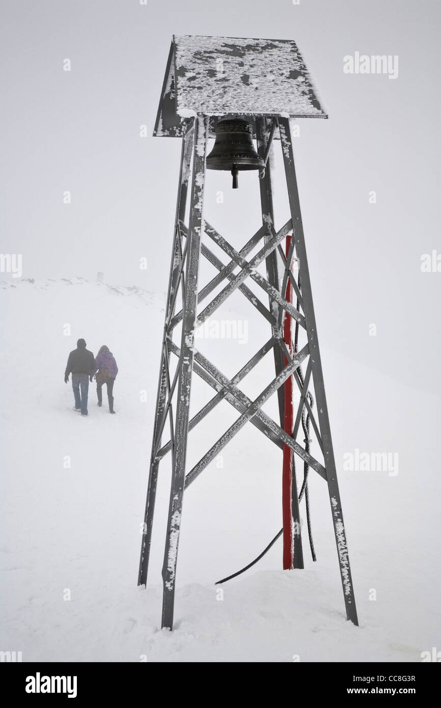
<svg viewBox="0 0 441 708">
<path fill-rule="evenodd" d="M 168 280 L 168 295 L 166 302 L 166 319 L 164 324 L 164 337 L 161 348 L 161 367 L 159 374 L 158 392 L 156 395 L 156 416 L 151 445 L 151 460 L 149 469 L 149 483 L 147 486 L 147 500 L 144 513 L 144 524 L 142 527 L 141 557 L 139 559 L 138 585 L 147 583 L 147 573 L 149 569 L 149 556 L 151 546 L 151 531 L 153 526 L 154 506 L 156 498 L 156 484 L 158 481 L 159 460 L 156 461 L 156 450 L 161 441 L 163 420 L 166 414 L 167 397 L 167 372 L 170 354 L 166 348 L 166 334 L 168 322 L 173 314 L 173 303 L 176 300 L 176 288 L 179 285 L 180 265 L 181 265 L 181 237 L 179 234 L 179 224 L 185 217 L 185 205 L 187 203 L 188 180 L 190 177 L 190 161 L 194 142 L 193 122 L 188 125 L 182 142 L 181 169 L 179 175 L 178 200 L 176 204 L 175 234 L 173 239 L 173 250 L 171 254 L 170 277 Z"/>
</svg>

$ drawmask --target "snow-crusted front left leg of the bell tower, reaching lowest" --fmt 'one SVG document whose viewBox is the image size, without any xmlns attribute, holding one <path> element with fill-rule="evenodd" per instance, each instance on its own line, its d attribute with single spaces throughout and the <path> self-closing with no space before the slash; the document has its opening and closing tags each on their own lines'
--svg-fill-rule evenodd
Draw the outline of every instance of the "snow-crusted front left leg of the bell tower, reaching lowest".
<svg viewBox="0 0 441 708">
<path fill-rule="evenodd" d="M 170 503 L 168 507 L 168 531 L 162 566 L 164 581 L 161 627 L 173 629 L 173 607 L 175 596 L 176 563 L 181 532 L 181 515 L 185 483 L 185 459 L 190 409 L 191 379 L 193 374 L 193 342 L 197 305 L 197 275 L 199 270 L 200 241 L 203 231 L 202 207 L 205 183 L 205 156 L 207 153 L 207 118 L 198 116 L 195 120 L 195 146 L 193 179 L 191 187 L 190 223 L 185 284 L 183 288 L 183 321 L 181 353 L 178 361 L 178 396 L 176 406 L 176 426 L 172 453 L 172 479 Z"/>
</svg>

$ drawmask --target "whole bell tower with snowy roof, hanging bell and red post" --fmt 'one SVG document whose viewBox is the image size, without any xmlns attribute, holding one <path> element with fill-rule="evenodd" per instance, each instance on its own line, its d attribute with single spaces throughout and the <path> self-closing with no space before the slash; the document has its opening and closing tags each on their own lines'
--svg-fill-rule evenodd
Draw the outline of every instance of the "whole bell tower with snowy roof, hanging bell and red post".
<svg viewBox="0 0 441 708">
<path fill-rule="evenodd" d="M 138 584 L 146 584 L 159 466 L 170 455 L 161 623 L 168 629 L 173 629 L 185 490 L 247 423 L 283 452 L 283 527 L 277 537 L 283 533 L 284 567 L 304 567 L 299 504 L 305 501 L 309 522 L 309 471 L 319 474 L 327 485 L 346 616 L 357 624 L 297 190 L 291 118 L 327 118 L 294 41 L 173 37 L 154 135 L 181 138 L 181 167 L 138 573 Z M 208 140 L 213 137 L 214 147 L 207 155 Z M 277 141 L 287 184 L 287 213 L 282 224 L 275 224 L 268 161 Z M 240 171 L 258 171 L 258 176 L 247 179 L 258 178 L 260 205 L 256 208 L 260 209 L 262 225 L 239 250 L 204 219 L 205 169 L 230 171 L 233 188 L 239 185 Z M 223 260 L 210 248 L 212 242 L 224 253 Z M 217 271 L 202 287 L 201 256 Z M 256 297 L 248 287 L 251 281 L 253 287 L 260 288 L 263 298 Z M 197 350 L 195 331 L 236 291 L 260 314 L 268 341 L 234 377 L 227 377 Z M 274 375 L 262 382 L 260 394 L 251 400 L 241 389 L 241 381 L 269 353 L 274 359 Z M 176 359 L 174 370 L 172 357 Z M 195 375 L 214 394 L 190 417 Z M 294 404 L 293 389 L 298 392 L 298 404 Z M 273 395 L 277 396 L 278 422 L 263 410 Z M 188 469 L 188 435 L 220 401 L 227 401 L 238 417 Z M 164 440 L 166 423 L 168 440 Z M 314 455 L 313 440 L 317 450 Z M 275 461 L 277 455 L 280 452 L 275 452 Z M 303 466 L 302 481 L 297 480 L 296 460 Z M 309 523 L 308 531 L 315 560 Z"/>
</svg>

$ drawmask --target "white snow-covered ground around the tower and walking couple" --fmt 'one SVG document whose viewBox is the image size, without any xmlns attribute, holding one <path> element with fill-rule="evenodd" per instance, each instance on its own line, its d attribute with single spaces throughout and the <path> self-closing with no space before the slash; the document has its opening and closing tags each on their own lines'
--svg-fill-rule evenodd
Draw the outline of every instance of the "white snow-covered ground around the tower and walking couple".
<svg viewBox="0 0 441 708">
<path fill-rule="evenodd" d="M 164 296 L 10 280 L 0 301 L 2 651 L 23 661 L 420 661 L 441 648 L 440 399 L 413 387 L 420 358 L 405 386 L 322 348 L 360 627 L 345 621 L 326 485 L 314 472 L 317 562 L 305 537 L 306 569 L 280 570 L 279 541 L 214 586 L 281 527 L 281 454 L 248 424 L 223 467 L 211 464 L 185 494 L 175 631 L 161 632 L 167 467 L 149 583 L 136 583 Z M 80 336 L 93 353 L 105 343 L 115 354 L 115 416 L 98 409 L 93 386 L 88 418 L 72 411 L 64 367 Z M 231 346 L 210 344 L 221 357 Z M 194 412 L 211 395 L 204 386 L 195 384 Z M 212 415 L 190 457 L 237 417 L 227 403 Z M 396 452 L 398 467 L 348 472 L 355 450 Z"/>
</svg>

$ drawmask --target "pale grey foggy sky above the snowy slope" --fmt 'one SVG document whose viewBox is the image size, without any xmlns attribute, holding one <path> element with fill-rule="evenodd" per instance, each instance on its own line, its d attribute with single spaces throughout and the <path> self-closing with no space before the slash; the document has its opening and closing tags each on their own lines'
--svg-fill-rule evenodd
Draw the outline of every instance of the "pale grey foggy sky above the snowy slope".
<svg viewBox="0 0 441 708">
<path fill-rule="evenodd" d="M 294 144 L 321 344 L 440 394 L 441 273 L 420 270 L 424 253 L 441 253 L 435 2 L 1 7 L 0 251 L 23 254 L 23 278 L 99 270 L 105 282 L 166 290 L 181 144 L 151 132 L 173 33 L 294 39 L 329 113 L 299 120 Z M 344 74 L 357 51 L 398 55 L 397 78 Z M 282 179 L 277 166 L 280 194 Z M 278 227 L 289 217 L 279 202 Z M 229 223 L 248 240 L 258 210 L 256 175 L 231 193 L 228 175 L 209 173 L 205 216 L 227 238 Z"/>
</svg>

